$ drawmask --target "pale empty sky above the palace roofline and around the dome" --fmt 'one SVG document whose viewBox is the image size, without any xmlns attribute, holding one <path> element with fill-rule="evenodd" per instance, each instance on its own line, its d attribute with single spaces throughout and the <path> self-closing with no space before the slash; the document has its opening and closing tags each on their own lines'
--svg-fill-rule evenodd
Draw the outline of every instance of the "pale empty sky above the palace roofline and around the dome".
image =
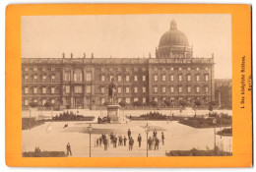
<svg viewBox="0 0 256 172">
<path fill-rule="evenodd" d="M 228 14 L 24 16 L 22 58 L 155 57 L 160 36 L 175 20 L 193 45 L 193 56 L 215 54 L 215 78 L 231 79 L 231 16 Z"/>
</svg>

